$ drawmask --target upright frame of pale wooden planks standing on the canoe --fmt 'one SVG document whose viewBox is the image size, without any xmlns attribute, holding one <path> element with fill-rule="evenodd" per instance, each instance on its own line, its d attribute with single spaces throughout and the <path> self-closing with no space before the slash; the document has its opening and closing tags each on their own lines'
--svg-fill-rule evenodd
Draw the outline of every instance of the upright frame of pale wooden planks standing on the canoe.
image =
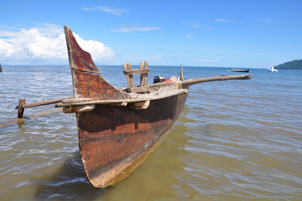
<svg viewBox="0 0 302 201">
<path fill-rule="evenodd" d="M 132 70 L 131 63 L 124 63 L 124 74 L 127 78 L 128 83 L 128 92 L 131 93 L 149 93 L 149 86 L 148 86 L 148 73 L 150 69 L 148 69 L 148 61 L 145 61 L 144 65 L 143 62 L 140 62 L 140 69 Z M 137 87 L 134 84 L 133 74 L 140 73 L 140 86 Z"/>
</svg>

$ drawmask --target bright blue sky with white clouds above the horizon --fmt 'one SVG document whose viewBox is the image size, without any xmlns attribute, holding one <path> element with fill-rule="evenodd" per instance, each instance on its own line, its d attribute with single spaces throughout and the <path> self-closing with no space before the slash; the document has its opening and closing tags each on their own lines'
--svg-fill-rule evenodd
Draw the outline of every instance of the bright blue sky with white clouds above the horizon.
<svg viewBox="0 0 302 201">
<path fill-rule="evenodd" d="M 2 1 L 0 64 L 67 65 L 63 26 L 98 65 L 270 68 L 302 59 L 302 1 Z"/>
</svg>

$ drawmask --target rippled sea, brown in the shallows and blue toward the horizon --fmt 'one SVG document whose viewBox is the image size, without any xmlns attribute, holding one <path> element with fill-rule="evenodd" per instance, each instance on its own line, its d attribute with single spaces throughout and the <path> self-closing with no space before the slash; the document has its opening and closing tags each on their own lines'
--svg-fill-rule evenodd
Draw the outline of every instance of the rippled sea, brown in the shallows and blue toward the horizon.
<svg viewBox="0 0 302 201">
<path fill-rule="evenodd" d="M 106 189 L 85 179 L 75 114 L 27 103 L 73 96 L 69 66 L 2 66 L 0 200 L 302 200 L 302 71 L 251 69 L 251 80 L 190 87 L 167 138 L 125 180 Z M 117 87 L 123 66 L 98 66 Z M 150 66 L 153 76 L 179 67 Z M 186 67 L 184 78 L 229 74 Z"/>
</svg>

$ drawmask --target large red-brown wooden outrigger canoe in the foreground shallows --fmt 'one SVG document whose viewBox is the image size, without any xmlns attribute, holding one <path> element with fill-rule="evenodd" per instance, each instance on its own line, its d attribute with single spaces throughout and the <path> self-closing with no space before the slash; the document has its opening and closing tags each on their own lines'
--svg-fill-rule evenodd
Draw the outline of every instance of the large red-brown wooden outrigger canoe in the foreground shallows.
<svg viewBox="0 0 302 201">
<path fill-rule="evenodd" d="M 127 63 L 124 74 L 129 87 L 118 89 L 100 75 L 90 53 L 82 50 L 70 28 L 64 26 L 64 30 L 74 97 L 47 104 L 62 101 L 55 107 L 63 107 L 65 113 L 76 113 L 82 165 L 87 180 L 97 188 L 123 180 L 156 148 L 182 113 L 190 85 L 252 78 L 216 76 L 148 85 L 148 62 L 144 66 L 141 63 L 139 70 L 132 70 Z M 135 73 L 141 76 L 139 87 L 134 86 Z M 16 107 L 22 115 L 24 108 L 46 102 L 25 104 L 25 99 L 22 100 Z"/>
</svg>

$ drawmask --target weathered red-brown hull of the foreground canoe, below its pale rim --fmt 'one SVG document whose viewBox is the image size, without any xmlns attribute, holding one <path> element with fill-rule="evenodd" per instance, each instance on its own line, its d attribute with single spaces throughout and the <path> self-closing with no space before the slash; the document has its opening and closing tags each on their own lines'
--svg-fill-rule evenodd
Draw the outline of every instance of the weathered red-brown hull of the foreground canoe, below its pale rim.
<svg viewBox="0 0 302 201">
<path fill-rule="evenodd" d="M 183 86 L 188 88 L 189 86 Z M 181 114 L 187 94 L 150 101 L 147 109 L 97 105 L 77 113 L 79 145 L 88 181 L 111 186 L 127 177 Z"/>
</svg>

